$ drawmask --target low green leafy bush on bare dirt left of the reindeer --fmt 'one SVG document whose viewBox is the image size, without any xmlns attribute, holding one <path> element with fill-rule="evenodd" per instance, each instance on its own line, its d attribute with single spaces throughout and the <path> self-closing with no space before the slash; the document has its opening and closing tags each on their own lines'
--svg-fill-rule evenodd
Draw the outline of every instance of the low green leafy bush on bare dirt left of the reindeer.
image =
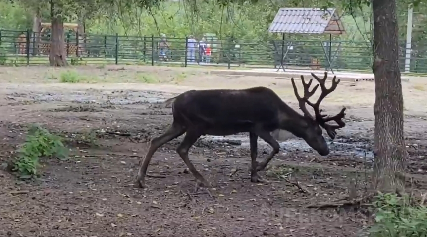
<svg viewBox="0 0 427 237">
<path fill-rule="evenodd" d="M 37 125 L 30 128 L 25 143 L 17 152 L 13 171 L 17 171 L 21 178 L 38 175 L 40 158 L 67 158 L 67 150 L 60 137 Z"/>
</svg>

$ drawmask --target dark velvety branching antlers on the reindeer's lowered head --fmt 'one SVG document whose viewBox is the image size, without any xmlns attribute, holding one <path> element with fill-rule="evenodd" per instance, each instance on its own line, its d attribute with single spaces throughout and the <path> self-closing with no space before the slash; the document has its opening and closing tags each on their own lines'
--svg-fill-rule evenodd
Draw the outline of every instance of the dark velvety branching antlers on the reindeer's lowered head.
<svg viewBox="0 0 427 237">
<path fill-rule="evenodd" d="M 339 128 L 343 128 L 343 127 L 345 127 L 345 122 L 343 122 L 342 121 L 342 119 L 344 118 L 344 116 L 345 116 L 345 107 L 337 114 L 337 115 L 335 115 L 335 116 L 332 116 L 332 117 L 327 117 L 327 118 L 324 118 L 324 117 L 326 117 L 327 115 L 322 115 L 322 114 L 320 114 L 320 112 L 321 112 L 321 109 L 319 108 L 320 107 L 320 103 L 321 103 L 321 101 L 327 96 L 327 95 L 329 95 L 330 93 L 332 93 L 335 89 L 336 89 L 336 87 L 338 86 L 338 83 L 340 82 L 340 79 L 338 79 L 338 80 L 336 80 L 336 76 L 334 76 L 333 77 L 333 79 L 332 79 L 332 85 L 331 85 L 331 87 L 328 89 L 328 88 L 326 88 L 326 86 L 325 86 L 325 82 L 326 82 L 326 79 L 327 79 L 327 72 L 325 72 L 324 73 L 324 77 L 323 77 L 323 79 L 320 79 L 318 76 L 316 76 L 314 73 L 312 73 L 312 76 L 319 82 L 319 84 L 318 85 L 316 85 L 314 88 L 313 88 L 313 90 L 312 91 L 309 91 L 309 87 L 310 87 L 310 85 L 311 85 L 311 83 L 312 83 L 312 81 L 313 81 L 313 79 L 310 79 L 310 81 L 309 81 L 309 83 L 308 84 L 306 84 L 305 83 L 305 81 L 304 81 L 304 77 L 303 76 L 301 76 L 301 80 L 302 80 L 302 82 L 303 82 L 303 86 L 304 86 L 304 97 L 303 98 L 301 98 L 299 95 L 298 95 L 298 91 L 297 91 L 297 88 L 296 88 L 296 85 L 295 85 L 295 82 L 294 82 L 294 79 L 292 78 L 291 79 L 291 81 L 292 81 L 292 86 L 294 87 L 294 92 L 295 92 L 295 95 L 296 95 L 296 97 L 297 97 L 297 99 L 298 99 L 298 101 L 299 101 L 299 106 L 300 106 L 300 108 L 301 108 L 301 110 L 304 112 L 304 114 L 305 115 L 310 115 L 310 113 L 308 112 L 308 110 L 307 110 L 307 108 L 305 107 L 305 104 L 307 103 L 308 105 L 310 105 L 311 107 L 313 107 L 313 110 L 314 110 L 314 112 L 315 112 L 315 117 L 314 117 L 314 119 L 316 119 L 316 121 L 319 123 L 319 125 L 320 126 L 322 126 L 325 130 L 326 130 L 326 132 L 327 132 L 327 134 L 329 135 L 329 137 L 330 138 L 332 138 L 332 139 L 334 139 L 335 138 L 335 136 L 336 136 L 336 129 L 339 129 Z M 316 101 L 316 103 L 315 104 L 313 104 L 313 103 L 311 103 L 308 99 L 314 94 L 314 92 L 316 92 L 316 90 L 317 90 L 317 88 L 320 86 L 320 89 L 321 89 L 321 94 L 320 94 L 320 96 L 319 96 L 319 98 L 318 98 L 318 100 Z M 311 115 L 310 115 L 310 117 L 312 117 Z M 312 117 L 313 118 L 313 117 Z M 335 121 L 336 123 L 337 123 L 337 125 L 330 125 L 330 124 L 327 124 L 326 122 L 329 122 L 329 121 Z"/>
</svg>

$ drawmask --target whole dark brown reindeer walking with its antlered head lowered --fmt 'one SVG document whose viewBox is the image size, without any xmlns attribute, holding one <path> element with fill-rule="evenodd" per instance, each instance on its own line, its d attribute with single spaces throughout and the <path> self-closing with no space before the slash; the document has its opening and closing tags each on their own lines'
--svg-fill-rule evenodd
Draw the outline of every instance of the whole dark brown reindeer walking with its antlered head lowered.
<svg viewBox="0 0 427 237">
<path fill-rule="evenodd" d="M 249 132 L 251 182 L 264 181 L 258 176 L 258 171 L 264 170 L 274 155 L 279 152 L 279 143 L 270 134 L 270 132 L 277 129 L 287 130 L 304 139 L 321 156 L 327 156 L 329 148 L 322 136 L 320 127 L 323 127 L 329 137 L 334 139 L 336 130 L 345 126 L 342 119 L 345 116 L 344 111 L 346 108 L 344 107 L 340 113 L 332 117 L 325 118 L 327 115 L 320 114 L 320 102 L 336 89 L 340 80 L 336 80 L 336 76 L 334 76 L 332 86 L 328 89 L 325 87 L 327 72 L 324 73 L 323 79 L 313 73 L 311 75 L 319 84 L 310 91 L 313 79 L 306 83 L 301 75 L 301 81 L 304 86 L 303 97 L 298 94 L 295 81 L 293 78 L 291 79 L 295 96 L 299 102 L 299 108 L 304 115 L 289 107 L 274 91 L 266 87 L 239 90 L 190 90 L 168 99 L 165 103 L 172 105 L 173 122 L 166 132 L 150 141 L 146 156 L 139 162 L 140 168 L 135 186 L 145 187 L 147 167 L 157 149 L 184 133 L 186 135 L 177 147 L 176 152 L 196 180 L 206 187 L 212 187 L 212 185 L 196 170 L 188 158 L 189 149 L 202 135 L 226 136 Z M 319 86 L 321 95 L 317 102 L 313 104 L 308 99 L 316 92 Z M 306 104 L 313 107 L 314 116 L 307 110 Z M 327 124 L 329 121 L 335 121 L 337 125 Z M 258 137 L 261 137 L 273 148 L 261 163 L 256 161 Z"/>
</svg>

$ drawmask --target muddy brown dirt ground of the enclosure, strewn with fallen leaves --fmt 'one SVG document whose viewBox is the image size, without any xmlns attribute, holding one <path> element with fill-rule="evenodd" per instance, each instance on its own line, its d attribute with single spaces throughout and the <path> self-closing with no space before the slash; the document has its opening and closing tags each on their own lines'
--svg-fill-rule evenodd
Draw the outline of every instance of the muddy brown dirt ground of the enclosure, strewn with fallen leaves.
<svg viewBox="0 0 427 237">
<path fill-rule="evenodd" d="M 87 83 L 60 83 L 67 70 Z M 282 142 L 281 152 L 260 172 L 268 183 L 250 182 L 246 134 L 201 138 L 190 158 L 216 184 L 210 192 L 195 190 L 176 154 L 182 137 L 154 155 L 147 189 L 132 186 L 145 142 L 172 120 L 171 109 L 156 103 L 193 88 L 263 85 L 297 108 L 289 80 L 214 76 L 197 68 L 85 66 L 2 67 L 0 83 L 0 163 L 24 141 L 27 123 L 62 134 L 71 152 L 66 161 L 44 160 L 36 181 L 0 170 L 2 237 L 342 237 L 363 236 L 371 222 L 359 211 L 307 206 L 348 196 L 352 179 L 363 193 L 373 158 L 373 82 L 342 82 L 323 102 L 328 113 L 348 108 L 347 126 L 329 156 L 298 139 Z M 420 194 L 427 187 L 427 80 L 411 78 L 403 88 L 408 188 Z M 270 148 L 260 144 L 261 160 Z"/>
</svg>

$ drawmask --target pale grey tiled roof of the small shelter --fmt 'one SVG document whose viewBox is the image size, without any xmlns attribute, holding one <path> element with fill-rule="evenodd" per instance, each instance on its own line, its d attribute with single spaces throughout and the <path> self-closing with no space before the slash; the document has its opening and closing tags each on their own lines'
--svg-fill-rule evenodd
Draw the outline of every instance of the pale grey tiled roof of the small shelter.
<svg viewBox="0 0 427 237">
<path fill-rule="evenodd" d="M 271 33 L 334 34 L 345 33 L 335 8 L 280 8 L 270 24 Z"/>
</svg>

